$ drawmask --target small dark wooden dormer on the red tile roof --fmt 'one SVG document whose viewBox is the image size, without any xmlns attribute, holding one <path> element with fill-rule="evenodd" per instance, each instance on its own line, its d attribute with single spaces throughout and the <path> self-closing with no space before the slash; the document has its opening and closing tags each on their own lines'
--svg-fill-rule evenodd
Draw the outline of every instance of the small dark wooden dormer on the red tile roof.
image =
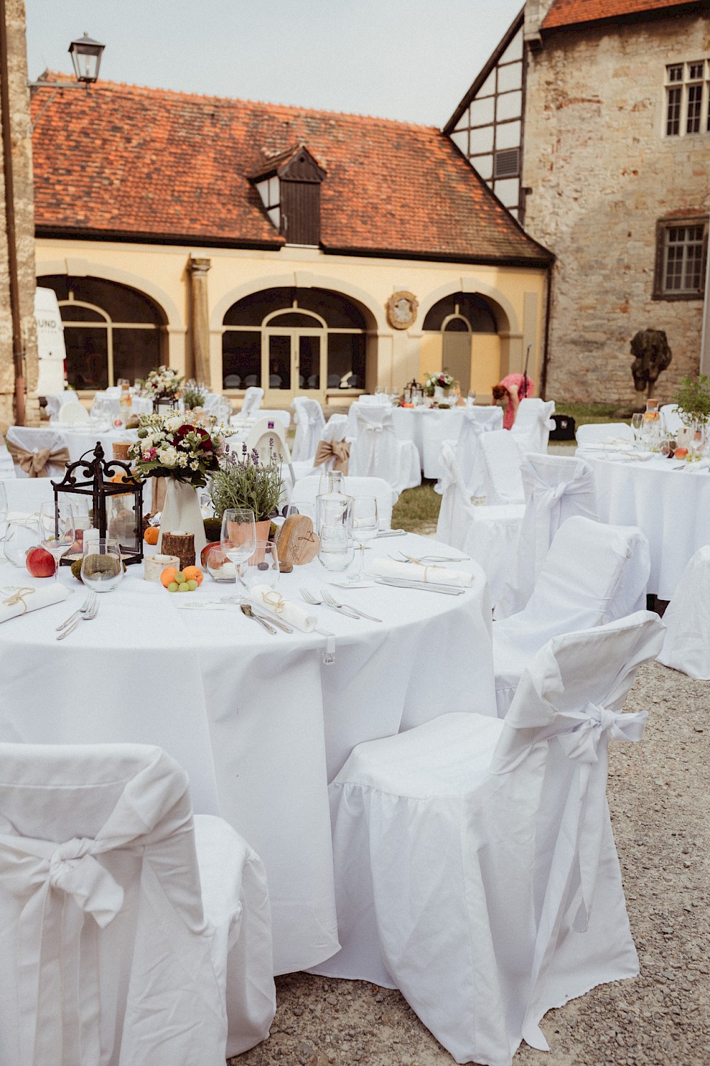
<svg viewBox="0 0 710 1066">
<path fill-rule="evenodd" d="M 271 224 L 287 244 L 320 243 L 325 176 L 304 145 L 283 152 L 251 176 Z"/>
</svg>

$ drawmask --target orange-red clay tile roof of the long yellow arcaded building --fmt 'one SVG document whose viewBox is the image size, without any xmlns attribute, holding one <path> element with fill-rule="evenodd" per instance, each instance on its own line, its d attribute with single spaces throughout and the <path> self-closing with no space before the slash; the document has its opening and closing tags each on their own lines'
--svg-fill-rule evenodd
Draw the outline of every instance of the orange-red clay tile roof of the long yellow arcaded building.
<svg viewBox="0 0 710 1066">
<path fill-rule="evenodd" d="M 49 80 L 58 76 L 47 74 Z M 304 144 L 334 252 L 547 261 L 427 126 L 98 82 L 32 100 L 37 233 L 279 247 L 248 175 Z"/>
</svg>

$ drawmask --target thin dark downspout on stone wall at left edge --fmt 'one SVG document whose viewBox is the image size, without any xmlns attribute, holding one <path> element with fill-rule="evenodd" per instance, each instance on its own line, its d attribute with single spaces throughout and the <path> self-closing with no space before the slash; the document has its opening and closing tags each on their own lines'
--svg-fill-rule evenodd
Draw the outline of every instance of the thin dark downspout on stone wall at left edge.
<svg viewBox="0 0 710 1066">
<path fill-rule="evenodd" d="M 0 122 L 2 123 L 2 173 L 5 182 L 5 232 L 7 235 L 7 274 L 10 312 L 13 327 L 13 365 L 15 368 L 15 421 L 25 425 L 25 368 L 22 330 L 17 280 L 17 241 L 15 233 L 15 187 L 13 147 L 10 130 L 10 79 L 7 75 L 7 20 L 5 0 L 0 0 Z"/>
</svg>

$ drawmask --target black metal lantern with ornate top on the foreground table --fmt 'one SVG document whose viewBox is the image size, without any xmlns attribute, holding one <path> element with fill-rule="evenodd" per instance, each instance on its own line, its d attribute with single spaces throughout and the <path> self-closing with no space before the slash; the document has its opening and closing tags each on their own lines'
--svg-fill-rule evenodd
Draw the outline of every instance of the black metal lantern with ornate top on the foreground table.
<svg viewBox="0 0 710 1066">
<path fill-rule="evenodd" d="M 86 456 L 91 456 L 87 458 Z M 113 479 L 120 477 L 120 481 Z M 83 480 L 80 480 L 83 479 Z M 67 463 L 62 481 L 53 481 L 54 505 L 60 492 L 83 500 L 87 519 L 100 537 L 115 537 L 120 545 L 120 556 L 130 566 L 143 562 L 143 482 L 120 459 L 106 459 L 100 441 L 93 452 L 84 452 L 76 463 Z M 61 560 L 70 565 L 80 558 L 77 550 L 67 552 Z"/>
</svg>

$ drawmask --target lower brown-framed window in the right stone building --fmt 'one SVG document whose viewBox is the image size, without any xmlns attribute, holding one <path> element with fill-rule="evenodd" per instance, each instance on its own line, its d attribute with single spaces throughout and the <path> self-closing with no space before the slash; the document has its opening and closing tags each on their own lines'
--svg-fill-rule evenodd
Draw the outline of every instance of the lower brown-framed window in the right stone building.
<svg viewBox="0 0 710 1066">
<path fill-rule="evenodd" d="M 657 229 L 657 300 L 698 300 L 705 292 L 708 220 L 673 219 Z"/>
</svg>

